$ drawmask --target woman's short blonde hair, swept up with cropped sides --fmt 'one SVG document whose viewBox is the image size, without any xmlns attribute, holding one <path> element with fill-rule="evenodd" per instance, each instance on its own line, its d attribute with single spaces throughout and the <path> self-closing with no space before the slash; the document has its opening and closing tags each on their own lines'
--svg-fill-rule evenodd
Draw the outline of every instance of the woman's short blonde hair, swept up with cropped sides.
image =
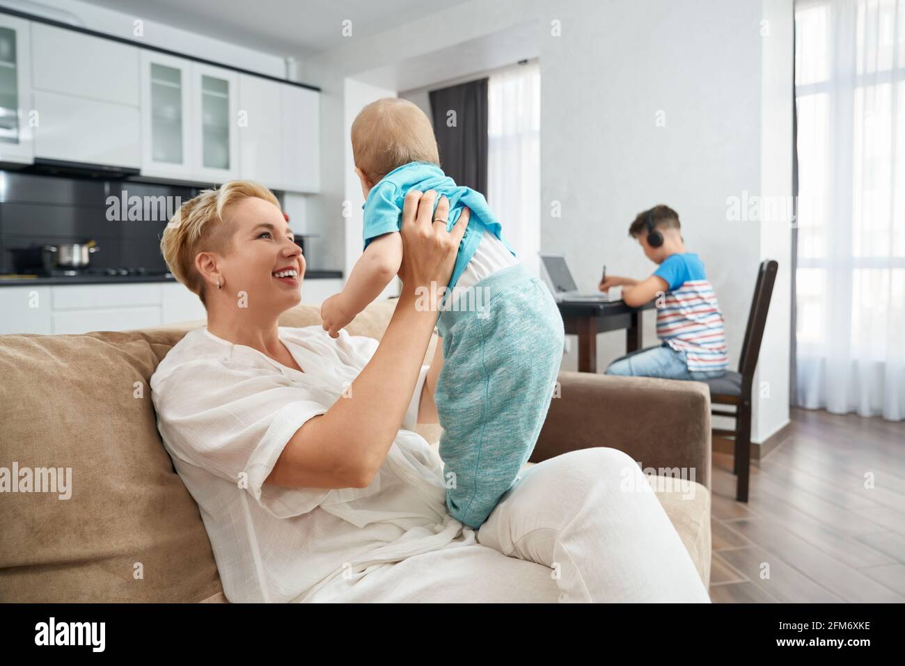
<svg viewBox="0 0 905 666">
<path fill-rule="evenodd" d="M 281 208 L 277 197 L 266 187 L 251 180 L 231 180 L 219 189 L 202 190 L 179 206 L 160 238 L 160 252 L 169 271 L 197 294 L 205 308 L 205 281 L 195 268 L 195 257 L 198 252 L 229 252 L 236 225 L 224 216 L 224 211 L 250 196 Z"/>
</svg>

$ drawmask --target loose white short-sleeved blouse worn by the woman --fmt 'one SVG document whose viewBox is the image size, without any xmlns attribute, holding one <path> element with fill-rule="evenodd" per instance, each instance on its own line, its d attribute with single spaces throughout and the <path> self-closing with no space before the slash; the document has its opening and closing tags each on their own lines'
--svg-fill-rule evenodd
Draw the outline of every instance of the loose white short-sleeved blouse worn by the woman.
<svg viewBox="0 0 905 666">
<path fill-rule="evenodd" d="M 157 428 L 201 510 L 226 598 L 302 602 L 346 570 L 474 543 L 446 511 L 443 462 L 412 432 L 429 366 L 367 488 L 263 485 L 291 436 L 340 398 L 378 344 L 319 325 L 280 327 L 280 338 L 303 372 L 197 328 L 151 376 Z"/>
</svg>

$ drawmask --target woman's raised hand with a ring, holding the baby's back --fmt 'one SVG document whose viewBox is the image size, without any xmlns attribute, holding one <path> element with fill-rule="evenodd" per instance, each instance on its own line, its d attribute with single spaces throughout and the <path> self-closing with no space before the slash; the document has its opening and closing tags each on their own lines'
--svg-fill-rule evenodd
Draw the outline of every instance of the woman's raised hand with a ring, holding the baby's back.
<svg viewBox="0 0 905 666">
<path fill-rule="evenodd" d="M 465 235 L 465 227 L 471 216 L 468 208 L 462 209 L 455 226 L 447 232 L 449 200 L 441 196 L 434 213 L 433 202 L 436 196 L 437 193 L 433 190 L 424 194 L 410 190 L 405 195 L 402 226 L 399 230 L 403 252 L 398 275 L 403 283 L 403 290 L 414 294 L 415 290 L 423 287 L 431 298 L 437 297 L 431 303 L 431 309 L 435 309 L 442 296 L 440 288 L 445 289 L 450 281 L 459 243 Z M 435 284 L 434 289 L 431 289 L 432 283 Z"/>
</svg>

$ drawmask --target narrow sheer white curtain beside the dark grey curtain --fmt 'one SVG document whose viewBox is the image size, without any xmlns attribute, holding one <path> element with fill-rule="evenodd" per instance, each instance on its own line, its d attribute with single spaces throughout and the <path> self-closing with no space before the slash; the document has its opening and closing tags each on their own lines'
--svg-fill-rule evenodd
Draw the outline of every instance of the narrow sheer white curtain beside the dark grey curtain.
<svg viewBox="0 0 905 666">
<path fill-rule="evenodd" d="M 487 84 L 487 203 L 520 262 L 538 274 L 540 250 L 540 70 L 529 62 Z"/>
</svg>

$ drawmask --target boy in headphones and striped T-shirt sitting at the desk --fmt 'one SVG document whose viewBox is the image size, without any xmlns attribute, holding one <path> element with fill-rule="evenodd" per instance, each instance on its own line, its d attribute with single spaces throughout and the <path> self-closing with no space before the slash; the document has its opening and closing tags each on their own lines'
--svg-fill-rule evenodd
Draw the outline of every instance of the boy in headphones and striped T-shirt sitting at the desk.
<svg viewBox="0 0 905 666">
<path fill-rule="evenodd" d="M 697 254 L 685 252 L 679 214 L 666 205 L 639 213 L 628 233 L 644 255 L 660 264 L 647 280 L 607 276 L 600 290 L 623 287 L 626 305 L 638 307 L 665 293 L 657 303 L 659 347 L 617 358 L 607 375 L 704 380 L 723 376 L 729 366 L 723 316 Z"/>
</svg>

